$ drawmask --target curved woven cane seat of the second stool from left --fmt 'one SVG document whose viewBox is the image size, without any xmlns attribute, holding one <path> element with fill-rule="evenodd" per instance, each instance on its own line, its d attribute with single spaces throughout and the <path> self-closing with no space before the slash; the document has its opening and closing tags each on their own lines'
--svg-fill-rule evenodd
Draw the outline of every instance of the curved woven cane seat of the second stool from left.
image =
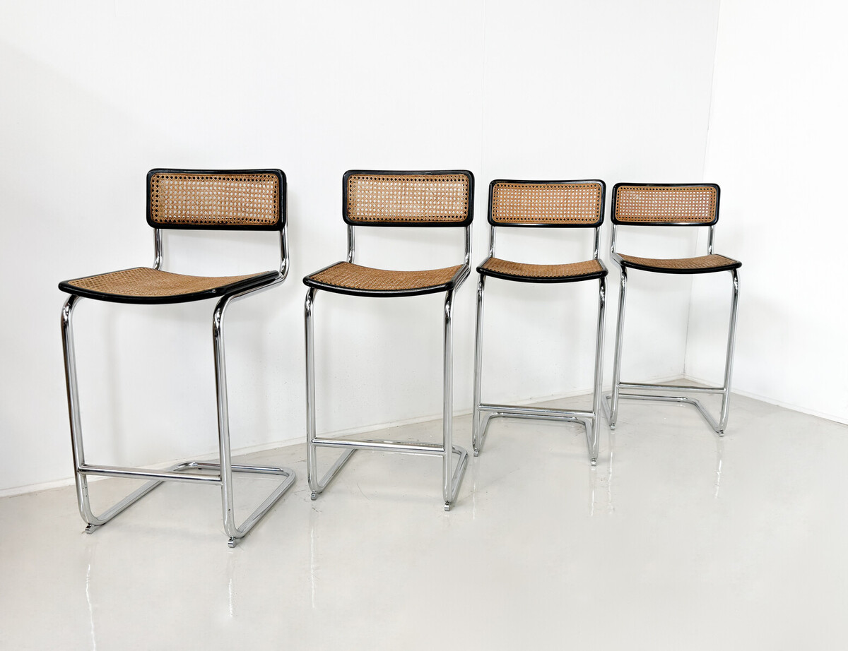
<svg viewBox="0 0 848 651">
<path fill-rule="evenodd" d="M 342 294 L 400 296 L 452 289 L 462 265 L 422 271 L 395 271 L 338 262 L 304 278 L 308 287 Z"/>
</svg>

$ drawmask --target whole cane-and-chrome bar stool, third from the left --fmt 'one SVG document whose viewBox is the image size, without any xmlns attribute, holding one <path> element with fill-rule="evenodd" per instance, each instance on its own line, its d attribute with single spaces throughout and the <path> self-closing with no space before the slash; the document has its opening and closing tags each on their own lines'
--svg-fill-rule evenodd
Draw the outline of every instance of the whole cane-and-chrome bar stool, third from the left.
<svg viewBox="0 0 848 651">
<path fill-rule="evenodd" d="M 598 460 L 598 412 L 601 396 L 601 364 L 604 348 L 606 267 L 598 259 L 600 225 L 604 221 L 604 181 L 492 181 L 488 187 L 488 258 L 477 267 L 477 336 L 474 347 L 474 413 L 471 437 L 474 456 L 483 448 L 493 418 L 533 418 L 580 423 L 586 430 L 589 462 Z M 494 256 L 495 228 L 594 228 L 592 259 L 569 264 L 529 264 Z M 598 281 L 598 322 L 594 351 L 592 410 L 518 407 L 483 403 L 483 292 L 491 276 L 518 282 Z"/>
</svg>

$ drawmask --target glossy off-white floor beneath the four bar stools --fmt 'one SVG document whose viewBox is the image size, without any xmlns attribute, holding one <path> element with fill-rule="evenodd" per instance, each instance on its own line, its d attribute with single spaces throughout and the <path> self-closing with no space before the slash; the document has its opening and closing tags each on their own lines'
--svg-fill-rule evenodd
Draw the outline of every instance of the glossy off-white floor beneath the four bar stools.
<svg viewBox="0 0 848 651">
<path fill-rule="evenodd" d="M 591 469 L 582 428 L 494 420 L 450 513 L 438 459 L 356 453 L 311 502 L 281 448 L 253 456 L 297 484 L 235 549 L 216 488 L 166 484 L 92 536 L 72 488 L 4 498 L 0 648 L 848 648 L 846 435 L 737 396 L 719 439 L 625 402 Z"/>
</svg>

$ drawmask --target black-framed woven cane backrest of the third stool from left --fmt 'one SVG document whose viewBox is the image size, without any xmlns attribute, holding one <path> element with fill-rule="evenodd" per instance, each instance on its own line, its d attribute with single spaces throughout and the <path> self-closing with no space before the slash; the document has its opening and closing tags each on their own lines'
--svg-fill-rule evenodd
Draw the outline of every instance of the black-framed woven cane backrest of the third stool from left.
<svg viewBox="0 0 848 651">
<path fill-rule="evenodd" d="M 604 220 L 603 181 L 492 181 L 493 225 L 596 226 Z"/>
</svg>

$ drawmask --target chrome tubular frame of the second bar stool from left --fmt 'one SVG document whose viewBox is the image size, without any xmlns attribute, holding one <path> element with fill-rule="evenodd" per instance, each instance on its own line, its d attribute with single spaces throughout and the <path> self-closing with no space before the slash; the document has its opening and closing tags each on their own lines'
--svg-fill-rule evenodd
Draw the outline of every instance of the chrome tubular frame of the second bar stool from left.
<svg viewBox="0 0 848 651">
<path fill-rule="evenodd" d="M 310 287 L 304 302 L 304 331 L 306 337 L 306 467 L 311 498 L 317 499 L 321 492 L 338 475 L 338 471 L 348 462 L 356 450 L 379 450 L 382 452 L 424 454 L 442 457 L 442 497 L 444 510 L 449 511 L 455 503 L 462 479 L 468 465 L 468 453 L 465 448 L 453 444 L 453 304 L 454 293 L 465 281 L 471 259 L 471 227 L 465 227 L 466 270 L 460 276 L 454 289 L 446 292 L 444 299 L 444 385 L 442 404 L 442 442 L 427 443 L 415 441 L 393 441 L 383 439 L 348 439 L 318 437 L 315 424 L 315 295 L 317 290 Z M 354 259 L 354 227 L 348 226 L 348 262 Z M 317 448 L 338 448 L 342 454 L 335 463 L 319 478 Z M 452 455 L 457 455 L 456 465 Z"/>
</svg>

